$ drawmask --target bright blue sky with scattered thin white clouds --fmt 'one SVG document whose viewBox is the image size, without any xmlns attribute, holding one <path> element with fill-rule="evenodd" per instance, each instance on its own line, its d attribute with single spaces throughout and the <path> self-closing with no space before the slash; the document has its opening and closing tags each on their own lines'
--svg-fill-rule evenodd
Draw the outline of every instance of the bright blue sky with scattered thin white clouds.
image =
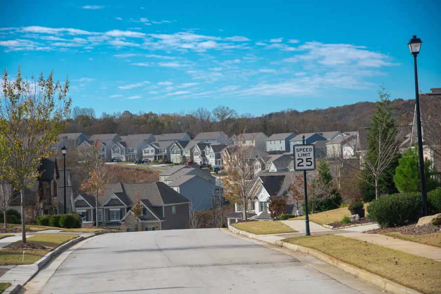
<svg viewBox="0 0 441 294">
<path fill-rule="evenodd" d="M 44 3 L 44 4 L 43 4 Z M 2 1 L 0 65 L 71 81 L 97 114 L 226 105 L 260 115 L 441 87 L 441 2 Z"/>
</svg>

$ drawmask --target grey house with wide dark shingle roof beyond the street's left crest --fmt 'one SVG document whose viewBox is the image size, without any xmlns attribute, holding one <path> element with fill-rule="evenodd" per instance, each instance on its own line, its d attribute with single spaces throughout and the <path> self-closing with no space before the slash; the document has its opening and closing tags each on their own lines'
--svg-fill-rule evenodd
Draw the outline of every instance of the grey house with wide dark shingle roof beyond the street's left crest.
<svg viewBox="0 0 441 294">
<path fill-rule="evenodd" d="M 136 220 L 131 204 L 141 198 L 143 209 Z M 97 217 L 95 197 L 80 194 L 75 198 L 76 213 L 83 226 L 93 226 Z M 189 228 L 189 201 L 162 182 L 108 183 L 98 197 L 98 226 L 124 231 L 151 231 Z"/>
</svg>

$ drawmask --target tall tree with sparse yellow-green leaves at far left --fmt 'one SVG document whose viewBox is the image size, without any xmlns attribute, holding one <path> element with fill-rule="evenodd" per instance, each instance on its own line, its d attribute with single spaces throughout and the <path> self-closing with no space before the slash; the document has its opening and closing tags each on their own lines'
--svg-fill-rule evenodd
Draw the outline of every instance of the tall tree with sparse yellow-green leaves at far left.
<svg viewBox="0 0 441 294">
<path fill-rule="evenodd" d="M 30 82 L 23 80 L 19 68 L 15 81 L 3 74 L 0 97 L 0 177 L 7 179 L 21 194 L 22 242 L 26 243 L 25 189 L 40 176 L 41 158 L 52 153 L 58 135 L 68 126 L 72 100 L 67 98 L 69 81 L 45 80 L 43 73 Z"/>
</svg>

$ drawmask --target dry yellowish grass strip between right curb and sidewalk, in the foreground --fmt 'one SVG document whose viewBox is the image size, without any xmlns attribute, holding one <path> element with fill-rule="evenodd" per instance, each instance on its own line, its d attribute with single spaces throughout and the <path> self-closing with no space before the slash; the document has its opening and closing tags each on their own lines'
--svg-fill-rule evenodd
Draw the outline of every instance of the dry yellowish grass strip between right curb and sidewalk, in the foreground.
<svg viewBox="0 0 441 294">
<path fill-rule="evenodd" d="M 283 241 L 317 249 L 424 294 L 440 293 L 441 262 L 432 259 L 336 235 L 302 236 Z"/>
</svg>

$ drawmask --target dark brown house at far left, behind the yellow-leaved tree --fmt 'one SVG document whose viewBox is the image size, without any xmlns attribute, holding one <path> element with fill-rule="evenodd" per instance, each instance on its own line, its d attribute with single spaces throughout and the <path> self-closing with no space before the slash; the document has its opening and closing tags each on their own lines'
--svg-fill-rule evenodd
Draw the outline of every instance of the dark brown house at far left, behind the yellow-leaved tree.
<svg viewBox="0 0 441 294">
<path fill-rule="evenodd" d="M 64 198 L 64 194 L 58 194 L 60 192 L 60 189 L 58 188 L 60 173 L 58 170 L 57 158 L 51 157 L 41 159 L 38 172 L 41 176 L 37 177 L 32 182 L 31 187 L 25 189 L 26 223 L 35 222 L 37 216 L 40 215 L 52 215 L 63 212 L 63 209 L 60 210 L 63 202 L 60 202 L 59 198 Z M 62 181 L 64 182 L 64 179 Z M 68 179 L 66 179 L 66 186 L 68 184 Z M 68 189 L 66 189 L 66 193 L 68 193 Z M 66 200 L 69 201 L 68 198 Z M 20 197 L 14 199 L 9 206 L 9 208 L 20 212 Z"/>
</svg>

